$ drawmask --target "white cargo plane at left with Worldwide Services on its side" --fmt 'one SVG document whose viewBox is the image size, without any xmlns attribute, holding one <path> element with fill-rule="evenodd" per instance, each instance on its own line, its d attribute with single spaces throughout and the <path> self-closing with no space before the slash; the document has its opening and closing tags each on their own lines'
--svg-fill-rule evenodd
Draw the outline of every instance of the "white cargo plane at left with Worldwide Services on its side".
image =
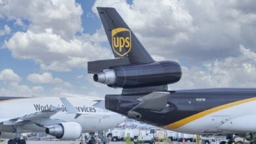
<svg viewBox="0 0 256 144">
<path fill-rule="evenodd" d="M 78 139 L 81 133 L 113 128 L 125 120 L 117 113 L 95 107 L 99 100 L 77 96 L 0 97 L 0 136 L 15 137 L 9 139 L 8 144 L 25 144 L 26 141 L 20 139 L 24 132 L 46 132 L 57 139 Z"/>
</svg>

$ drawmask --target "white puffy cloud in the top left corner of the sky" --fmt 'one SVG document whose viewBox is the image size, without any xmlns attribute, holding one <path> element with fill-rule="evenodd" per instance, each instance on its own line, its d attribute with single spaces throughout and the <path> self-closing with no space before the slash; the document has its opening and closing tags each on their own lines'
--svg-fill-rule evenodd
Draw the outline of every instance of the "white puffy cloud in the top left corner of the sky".
<svg viewBox="0 0 256 144">
<path fill-rule="evenodd" d="M 30 31 L 40 33 L 51 28 L 64 39 L 71 39 L 83 29 L 81 5 L 70 0 L 24 0 L 22 3 L 18 0 L 4 1 L 0 5 L 0 13 L 10 20 L 28 20 Z"/>
</svg>

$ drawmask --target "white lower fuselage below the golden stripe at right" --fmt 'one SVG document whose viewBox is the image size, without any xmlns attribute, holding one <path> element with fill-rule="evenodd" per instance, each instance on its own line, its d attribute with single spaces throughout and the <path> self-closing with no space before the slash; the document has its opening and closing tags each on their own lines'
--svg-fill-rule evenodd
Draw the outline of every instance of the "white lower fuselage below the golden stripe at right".
<svg viewBox="0 0 256 144">
<path fill-rule="evenodd" d="M 195 120 L 187 120 L 186 124 L 179 128 L 172 128 L 172 126 L 164 126 L 164 128 L 187 134 L 245 134 L 256 132 L 255 109 L 256 98 L 252 98 L 251 101 L 225 107 L 214 113 L 209 112 Z"/>
</svg>

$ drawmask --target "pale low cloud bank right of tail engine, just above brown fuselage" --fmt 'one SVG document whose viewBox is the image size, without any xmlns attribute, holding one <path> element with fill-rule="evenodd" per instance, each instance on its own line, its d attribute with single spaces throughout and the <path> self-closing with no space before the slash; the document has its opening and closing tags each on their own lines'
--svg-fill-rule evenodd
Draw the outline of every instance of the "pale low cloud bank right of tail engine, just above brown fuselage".
<svg viewBox="0 0 256 144">
<path fill-rule="evenodd" d="M 182 67 L 181 81 L 171 89 L 190 88 L 253 88 L 256 81 L 256 53 L 240 45 L 238 56 L 230 56 L 203 65 Z"/>
</svg>

